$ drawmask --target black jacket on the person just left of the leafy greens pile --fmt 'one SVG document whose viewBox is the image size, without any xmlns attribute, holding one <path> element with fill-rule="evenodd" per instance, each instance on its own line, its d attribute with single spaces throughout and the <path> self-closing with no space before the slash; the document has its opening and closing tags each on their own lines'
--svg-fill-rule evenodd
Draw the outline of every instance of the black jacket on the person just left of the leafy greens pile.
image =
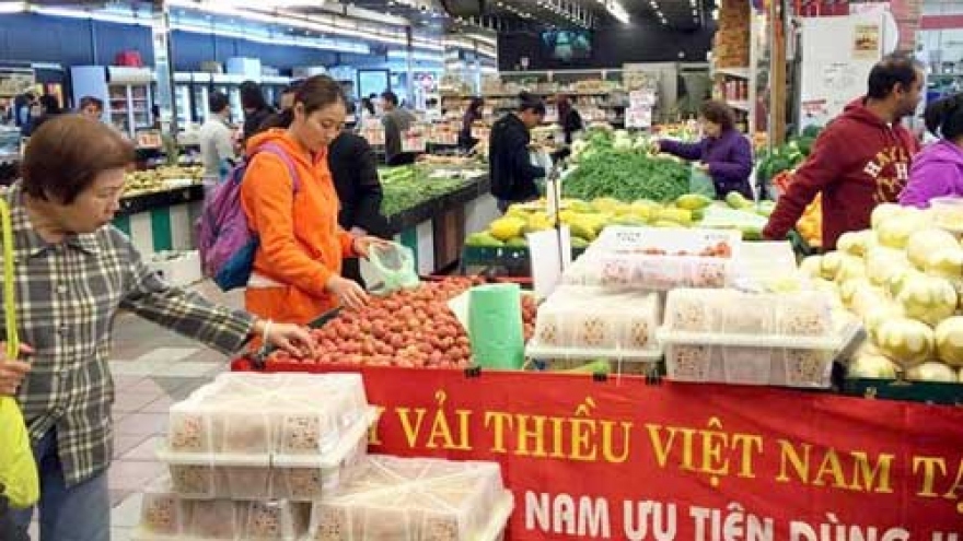
<svg viewBox="0 0 963 541">
<path fill-rule="evenodd" d="M 535 179 L 545 176 L 543 167 L 532 165 L 529 129 L 514 114 L 500 118 L 488 141 L 488 173 L 491 195 L 506 201 L 538 198 Z"/>
</svg>

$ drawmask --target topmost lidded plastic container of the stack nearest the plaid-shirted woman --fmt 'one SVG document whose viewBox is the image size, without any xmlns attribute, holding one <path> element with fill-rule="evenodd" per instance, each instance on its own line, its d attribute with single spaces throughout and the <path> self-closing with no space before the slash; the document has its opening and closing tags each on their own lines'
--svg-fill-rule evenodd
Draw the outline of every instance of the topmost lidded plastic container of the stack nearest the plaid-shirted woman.
<svg viewBox="0 0 963 541">
<path fill-rule="evenodd" d="M 321 456 L 367 409 L 358 374 L 222 374 L 171 407 L 166 447 L 199 457 Z"/>
</svg>

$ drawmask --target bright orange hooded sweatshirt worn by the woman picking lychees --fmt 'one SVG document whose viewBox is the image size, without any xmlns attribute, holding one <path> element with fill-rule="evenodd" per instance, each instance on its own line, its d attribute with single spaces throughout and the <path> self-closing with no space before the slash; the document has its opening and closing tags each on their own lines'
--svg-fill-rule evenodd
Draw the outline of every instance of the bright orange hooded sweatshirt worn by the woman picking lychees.
<svg viewBox="0 0 963 541">
<path fill-rule="evenodd" d="M 297 193 L 288 166 L 265 143 L 283 149 L 300 177 Z M 251 163 L 241 185 L 247 223 L 260 239 L 245 292 L 247 310 L 262 318 L 308 324 L 337 306 L 325 285 L 353 256 L 351 235 L 338 226 L 338 195 L 327 167 L 327 149 L 314 156 L 287 130 L 268 130 L 247 143 Z"/>
</svg>

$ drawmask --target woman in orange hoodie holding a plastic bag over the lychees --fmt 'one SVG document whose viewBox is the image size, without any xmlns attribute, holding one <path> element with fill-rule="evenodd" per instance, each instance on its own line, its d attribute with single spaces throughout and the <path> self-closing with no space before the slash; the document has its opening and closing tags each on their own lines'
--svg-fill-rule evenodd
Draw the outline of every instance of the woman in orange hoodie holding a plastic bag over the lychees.
<svg viewBox="0 0 963 541">
<path fill-rule="evenodd" d="M 260 245 L 245 302 L 263 318 L 303 325 L 338 304 L 358 307 L 368 301 L 360 285 L 340 277 L 341 259 L 368 257 L 369 247 L 382 240 L 352 237 L 338 226 L 338 196 L 327 167 L 345 104 L 333 79 L 308 79 L 286 113 L 290 127 L 247 143 L 241 204 Z"/>
</svg>

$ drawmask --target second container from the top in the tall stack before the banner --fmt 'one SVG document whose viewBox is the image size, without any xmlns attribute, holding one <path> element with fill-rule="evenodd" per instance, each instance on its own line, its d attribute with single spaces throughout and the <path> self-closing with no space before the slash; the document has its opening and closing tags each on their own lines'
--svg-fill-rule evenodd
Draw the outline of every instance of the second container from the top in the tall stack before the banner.
<svg viewBox="0 0 963 541">
<path fill-rule="evenodd" d="M 338 444 L 321 456 L 198 455 L 162 448 L 158 457 L 167 464 L 171 484 L 182 497 L 315 502 L 337 489 L 364 458 L 368 431 L 375 419 L 376 410 L 369 408 L 341 432 Z"/>
</svg>

